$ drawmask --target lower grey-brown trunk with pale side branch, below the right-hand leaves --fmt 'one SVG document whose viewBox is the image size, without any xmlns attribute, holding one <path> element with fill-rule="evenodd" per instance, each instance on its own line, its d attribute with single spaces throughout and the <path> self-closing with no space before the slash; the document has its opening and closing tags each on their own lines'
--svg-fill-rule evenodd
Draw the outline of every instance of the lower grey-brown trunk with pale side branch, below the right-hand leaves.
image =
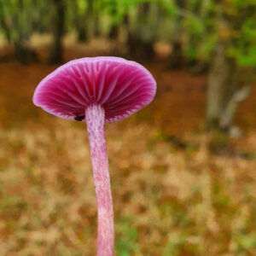
<svg viewBox="0 0 256 256">
<path fill-rule="evenodd" d="M 248 95 L 248 87 L 238 83 L 236 60 L 227 55 L 229 41 L 218 41 L 212 53 L 207 89 L 207 125 L 230 131 L 239 102 Z"/>
</svg>

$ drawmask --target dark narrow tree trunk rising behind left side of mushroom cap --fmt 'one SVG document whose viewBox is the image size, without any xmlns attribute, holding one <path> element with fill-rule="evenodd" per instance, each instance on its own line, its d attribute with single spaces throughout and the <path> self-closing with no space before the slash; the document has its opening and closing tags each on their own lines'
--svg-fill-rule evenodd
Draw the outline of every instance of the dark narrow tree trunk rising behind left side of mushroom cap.
<svg viewBox="0 0 256 256">
<path fill-rule="evenodd" d="M 55 5 L 55 22 L 53 29 L 54 42 L 52 45 L 49 62 L 58 64 L 62 62 L 62 37 L 64 34 L 65 8 L 63 0 L 52 0 Z"/>
</svg>

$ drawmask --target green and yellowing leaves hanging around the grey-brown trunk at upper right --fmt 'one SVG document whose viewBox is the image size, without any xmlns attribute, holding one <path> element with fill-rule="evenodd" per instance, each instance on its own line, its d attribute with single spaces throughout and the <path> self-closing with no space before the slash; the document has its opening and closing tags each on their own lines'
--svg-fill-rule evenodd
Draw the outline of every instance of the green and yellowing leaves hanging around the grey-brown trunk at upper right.
<svg viewBox="0 0 256 256">
<path fill-rule="evenodd" d="M 178 5 L 177 1 L 160 1 L 169 17 L 182 20 L 183 54 L 189 60 L 209 59 L 218 40 L 226 39 L 230 40 L 227 54 L 240 66 L 256 65 L 255 1 L 190 0 L 183 8 Z"/>
</svg>

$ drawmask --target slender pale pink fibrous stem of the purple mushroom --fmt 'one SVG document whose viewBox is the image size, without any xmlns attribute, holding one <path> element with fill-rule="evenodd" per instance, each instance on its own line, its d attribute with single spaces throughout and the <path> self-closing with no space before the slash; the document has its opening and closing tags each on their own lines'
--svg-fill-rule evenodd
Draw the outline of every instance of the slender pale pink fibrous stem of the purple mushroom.
<svg viewBox="0 0 256 256">
<path fill-rule="evenodd" d="M 90 159 L 93 169 L 98 210 L 97 256 L 113 256 L 113 202 L 104 131 L 104 108 L 99 105 L 91 105 L 85 111 L 85 120 L 90 142 Z"/>
</svg>

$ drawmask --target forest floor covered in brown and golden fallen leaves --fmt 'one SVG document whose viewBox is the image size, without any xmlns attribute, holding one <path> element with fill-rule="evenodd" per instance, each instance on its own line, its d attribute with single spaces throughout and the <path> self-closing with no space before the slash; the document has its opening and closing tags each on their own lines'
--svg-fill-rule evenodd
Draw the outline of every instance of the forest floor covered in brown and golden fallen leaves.
<svg viewBox="0 0 256 256">
<path fill-rule="evenodd" d="M 65 61 L 111 52 L 108 41 L 66 42 Z M 0 63 L 0 255 L 96 255 L 86 127 L 32 104 L 56 68 L 47 47 L 39 54 Z M 116 255 L 255 255 L 256 86 L 236 114 L 243 135 L 228 139 L 203 126 L 207 75 L 170 72 L 165 52 L 143 65 L 154 102 L 106 125 Z"/>
</svg>

